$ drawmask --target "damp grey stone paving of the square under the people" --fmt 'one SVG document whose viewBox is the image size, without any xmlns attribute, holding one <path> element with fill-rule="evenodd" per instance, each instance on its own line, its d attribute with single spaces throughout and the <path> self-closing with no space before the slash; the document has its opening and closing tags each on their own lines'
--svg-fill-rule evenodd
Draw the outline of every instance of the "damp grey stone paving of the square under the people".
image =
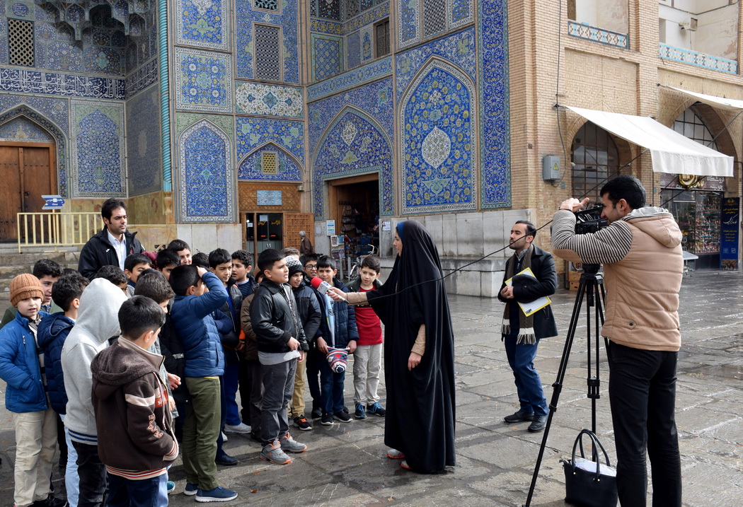
<svg viewBox="0 0 743 507">
<path fill-rule="evenodd" d="M 553 299 L 559 338 L 542 341 L 536 367 L 548 401 L 562 357 L 575 292 Z M 513 376 L 499 337 L 502 304 L 489 298 L 450 296 L 455 323 L 458 464 L 441 475 L 403 471 L 385 457 L 382 417 L 292 434 L 308 445 L 290 465 L 268 465 L 259 445 L 230 436 L 227 451 L 240 460 L 220 467 L 219 480 L 236 489 L 230 506 L 521 506 L 527 496 L 542 434 L 528 423 L 507 425 L 502 417 L 518 408 Z M 743 504 L 743 276 L 737 272 L 695 272 L 684 277 L 681 322 L 684 344 L 678 364 L 677 422 L 684 474 L 684 506 L 737 507 Z M 533 506 L 564 506 L 561 457 L 581 428 L 591 427 L 587 399 L 585 308 L 568 360 L 564 388 L 539 471 Z M 603 354 L 597 433 L 614 460 L 608 400 L 608 367 Z M 350 374 L 346 405 L 352 406 Z M 4 386 L 2 386 L 4 387 Z M 382 386 L 383 387 L 383 386 Z M 382 389 L 383 396 L 383 389 Z M 384 398 L 383 398 L 384 399 Z M 0 413 L 0 505 L 13 502 L 10 413 Z M 55 468 L 55 484 L 63 488 Z M 172 506 L 192 505 L 181 494 L 180 459 L 171 469 Z M 652 486 L 649 488 L 652 491 Z M 737 500 L 736 500 L 737 499 Z M 632 506 L 626 506 L 632 507 Z"/>
</svg>

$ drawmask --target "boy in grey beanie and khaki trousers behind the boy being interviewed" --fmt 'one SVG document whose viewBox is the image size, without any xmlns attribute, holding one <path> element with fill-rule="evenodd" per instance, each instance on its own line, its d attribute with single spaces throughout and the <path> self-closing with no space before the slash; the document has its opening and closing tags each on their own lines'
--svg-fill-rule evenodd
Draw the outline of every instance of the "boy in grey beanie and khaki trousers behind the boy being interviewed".
<svg viewBox="0 0 743 507">
<path fill-rule="evenodd" d="M 296 299 L 296 309 L 299 315 L 299 321 L 305 330 L 305 337 L 308 344 L 314 340 L 315 333 L 320 326 L 320 305 L 315 297 L 314 290 L 307 287 L 305 281 L 305 272 L 302 269 L 302 263 L 293 257 L 286 258 L 289 267 L 289 285 L 291 285 L 294 298 Z M 309 351 L 302 360 L 296 364 L 296 374 L 294 375 L 294 394 L 291 398 L 291 412 L 289 418 L 294 420 L 294 425 L 302 431 L 312 429 L 312 425 L 305 417 L 305 367 Z"/>
</svg>

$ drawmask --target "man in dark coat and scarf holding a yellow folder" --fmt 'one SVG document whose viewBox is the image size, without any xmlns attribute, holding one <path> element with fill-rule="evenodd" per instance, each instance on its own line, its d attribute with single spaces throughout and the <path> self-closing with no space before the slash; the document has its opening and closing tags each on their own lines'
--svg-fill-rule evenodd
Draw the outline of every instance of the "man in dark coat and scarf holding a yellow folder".
<svg viewBox="0 0 743 507">
<path fill-rule="evenodd" d="M 548 408 L 542 381 L 534 369 L 539 340 L 557 336 L 552 307 L 548 296 L 557 289 L 557 272 L 552 255 L 532 243 L 536 227 L 527 220 L 513 224 L 510 249 L 513 256 L 506 261 L 506 270 L 498 299 L 506 306 L 503 312 L 502 339 L 508 364 L 513 370 L 520 408 L 506 416 L 505 422 L 531 421 L 528 430 L 542 431 L 547 424 Z M 539 310 L 530 309 L 532 301 L 546 298 Z"/>
</svg>

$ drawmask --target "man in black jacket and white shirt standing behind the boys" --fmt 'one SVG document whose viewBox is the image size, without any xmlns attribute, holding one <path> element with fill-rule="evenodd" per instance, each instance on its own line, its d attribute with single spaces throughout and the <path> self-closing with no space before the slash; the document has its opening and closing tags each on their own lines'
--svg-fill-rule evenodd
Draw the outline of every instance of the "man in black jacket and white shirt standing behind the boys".
<svg viewBox="0 0 743 507">
<path fill-rule="evenodd" d="M 101 266 L 119 266 L 124 269 L 124 259 L 133 253 L 142 253 L 142 243 L 126 231 L 126 204 L 123 200 L 111 197 L 100 209 L 106 227 L 85 243 L 80 251 L 77 270 L 92 280 Z"/>
</svg>

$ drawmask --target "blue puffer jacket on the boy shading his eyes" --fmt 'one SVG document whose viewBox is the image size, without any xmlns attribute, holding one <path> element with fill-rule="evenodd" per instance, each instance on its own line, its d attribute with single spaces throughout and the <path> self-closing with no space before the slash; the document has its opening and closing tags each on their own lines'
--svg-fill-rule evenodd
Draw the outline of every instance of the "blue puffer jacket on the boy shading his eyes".
<svg viewBox="0 0 743 507">
<path fill-rule="evenodd" d="M 213 273 L 204 273 L 201 280 L 207 284 L 209 292 L 199 296 L 175 296 L 170 316 L 184 347 L 184 374 L 187 377 L 221 376 L 224 353 L 221 335 L 211 314 L 227 301 L 227 290 Z"/>
</svg>

